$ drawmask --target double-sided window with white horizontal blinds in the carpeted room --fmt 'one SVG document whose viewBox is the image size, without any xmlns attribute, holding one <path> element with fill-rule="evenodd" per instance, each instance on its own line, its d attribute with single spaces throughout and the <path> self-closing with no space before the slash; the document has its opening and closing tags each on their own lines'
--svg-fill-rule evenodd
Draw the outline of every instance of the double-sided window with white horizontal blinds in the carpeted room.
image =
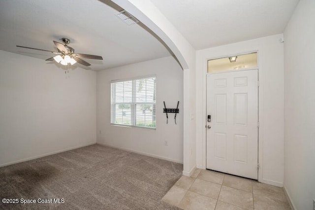
<svg viewBox="0 0 315 210">
<path fill-rule="evenodd" d="M 156 77 L 111 83 L 111 124 L 156 128 Z"/>
</svg>

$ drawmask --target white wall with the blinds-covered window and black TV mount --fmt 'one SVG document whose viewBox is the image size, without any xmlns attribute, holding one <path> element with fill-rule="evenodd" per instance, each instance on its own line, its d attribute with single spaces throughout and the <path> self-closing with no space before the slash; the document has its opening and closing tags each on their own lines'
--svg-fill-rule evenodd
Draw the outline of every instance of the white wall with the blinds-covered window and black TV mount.
<svg viewBox="0 0 315 210">
<path fill-rule="evenodd" d="M 157 76 L 157 129 L 110 125 L 110 82 L 145 75 Z M 166 106 L 180 101 L 177 125 L 174 114 L 168 124 Z M 101 134 L 99 131 L 101 130 Z M 183 163 L 183 70 L 173 57 L 107 69 L 97 72 L 97 142 Z M 168 146 L 164 141 L 168 141 Z"/>
</svg>

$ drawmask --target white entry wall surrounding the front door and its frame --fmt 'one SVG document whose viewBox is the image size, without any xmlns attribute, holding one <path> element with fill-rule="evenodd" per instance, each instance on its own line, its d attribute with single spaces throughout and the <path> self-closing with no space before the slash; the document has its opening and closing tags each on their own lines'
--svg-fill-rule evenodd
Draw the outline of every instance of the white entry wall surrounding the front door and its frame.
<svg viewBox="0 0 315 210">
<path fill-rule="evenodd" d="M 258 50 L 259 66 L 259 177 L 261 182 L 282 186 L 284 176 L 284 52 L 272 35 L 198 50 L 196 55 L 196 154 L 197 167 L 206 167 L 205 80 L 207 60 Z"/>
</svg>

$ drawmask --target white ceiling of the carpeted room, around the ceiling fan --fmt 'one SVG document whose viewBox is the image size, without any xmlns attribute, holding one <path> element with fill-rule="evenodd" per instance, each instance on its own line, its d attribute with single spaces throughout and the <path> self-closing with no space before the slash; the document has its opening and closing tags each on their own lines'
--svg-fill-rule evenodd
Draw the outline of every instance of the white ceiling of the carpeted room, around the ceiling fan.
<svg viewBox="0 0 315 210">
<path fill-rule="evenodd" d="M 84 59 L 90 67 L 75 64 L 90 70 L 171 55 L 141 23 L 128 26 L 116 17 L 120 10 L 110 0 L 0 0 L 0 50 L 49 63 L 45 60 L 54 54 L 16 45 L 57 51 L 53 40 L 67 37 L 76 53 L 103 57 Z"/>
</svg>

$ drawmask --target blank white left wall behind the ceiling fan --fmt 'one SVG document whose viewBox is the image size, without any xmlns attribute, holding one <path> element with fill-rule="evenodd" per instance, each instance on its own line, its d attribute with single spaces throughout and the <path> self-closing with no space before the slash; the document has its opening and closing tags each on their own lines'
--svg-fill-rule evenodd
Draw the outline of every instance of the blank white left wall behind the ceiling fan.
<svg viewBox="0 0 315 210">
<path fill-rule="evenodd" d="M 96 72 L 0 51 L 0 166 L 96 142 Z"/>
</svg>

